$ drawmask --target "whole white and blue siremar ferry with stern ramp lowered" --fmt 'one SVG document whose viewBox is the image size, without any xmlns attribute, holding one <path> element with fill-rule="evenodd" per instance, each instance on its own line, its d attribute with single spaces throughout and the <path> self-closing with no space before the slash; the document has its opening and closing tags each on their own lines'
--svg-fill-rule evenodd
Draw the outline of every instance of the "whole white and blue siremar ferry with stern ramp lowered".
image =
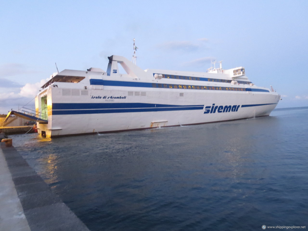
<svg viewBox="0 0 308 231">
<path fill-rule="evenodd" d="M 7 118 L 36 121 L 39 135 L 54 138 L 266 116 L 280 99 L 254 85 L 244 67 L 143 70 L 122 56 L 108 59 L 107 71 L 55 73 L 36 95 L 35 111 L 12 110 Z"/>
</svg>

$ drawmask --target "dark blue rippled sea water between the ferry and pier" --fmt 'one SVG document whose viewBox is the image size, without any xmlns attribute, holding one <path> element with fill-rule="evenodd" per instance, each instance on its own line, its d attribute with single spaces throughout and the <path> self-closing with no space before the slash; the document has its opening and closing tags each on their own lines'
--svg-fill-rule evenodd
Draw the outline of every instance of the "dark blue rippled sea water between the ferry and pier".
<svg viewBox="0 0 308 231">
<path fill-rule="evenodd" d="M 92 231 L 308 227 L 307 115 L 11 138 Z"/>
</svg>

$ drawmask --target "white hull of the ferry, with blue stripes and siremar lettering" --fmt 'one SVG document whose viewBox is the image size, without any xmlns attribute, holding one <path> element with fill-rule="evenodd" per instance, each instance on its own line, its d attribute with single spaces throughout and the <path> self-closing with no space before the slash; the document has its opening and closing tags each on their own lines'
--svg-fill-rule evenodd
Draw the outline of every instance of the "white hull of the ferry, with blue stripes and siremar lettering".
<svg viewBox="0 0 308 231">
<path fill-rule="evenodd" d="M 121 84 L 126 83 L 123 81 L 123 76 L 121 77 L 111 75 L 102 79 L 110 81 L 112 79 L 117 83 L 121 80 Z M 153 83 L 152 79 L 139 79 L 139 82 L 138 79 L 128 80 L 129 84 Z M 238 91 L 107 84 L 88 85 L 85 89 L 85 84 L 82 82 L 54 82 L 39 93 L 36 99 L 37 111 L 42 110 L 43 97 L 46 97 L 48 107 L 48 123 L 38 123 L 38 133 L 47 137 L 57 137 L 237 120 L 269 115 L 280 99 L 280 95 L 276 92 L 247 91 L 245 89 L 253 88 L 247 84 L 231 85 L 231 83 L 184 79 L 155 79 L 154 83 L 159 81 L 169 83 L 169 86 L 170 83 L 181 83 L 187 86 L 194 84 L 238 87 Z M 239 87 L 242 88 L 241 91 Z M 224 107 L 229 109 L 223 109 Z"/>
</svg>

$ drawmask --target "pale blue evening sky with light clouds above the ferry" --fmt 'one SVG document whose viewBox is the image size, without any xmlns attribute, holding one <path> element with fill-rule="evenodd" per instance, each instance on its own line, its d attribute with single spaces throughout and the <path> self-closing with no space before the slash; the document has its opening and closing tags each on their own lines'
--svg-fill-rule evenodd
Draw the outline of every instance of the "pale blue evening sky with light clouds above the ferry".
<svg viewBox="0 0 308 231">
<path fill-rule="evenodd" d="M 107 69 L 108 56 L 142 69 L 245 67 L 255 85 L 308 106 L 308 1 L 1 1 L 0 114 L 34 108 L 54 72 Z"/>
</svg>

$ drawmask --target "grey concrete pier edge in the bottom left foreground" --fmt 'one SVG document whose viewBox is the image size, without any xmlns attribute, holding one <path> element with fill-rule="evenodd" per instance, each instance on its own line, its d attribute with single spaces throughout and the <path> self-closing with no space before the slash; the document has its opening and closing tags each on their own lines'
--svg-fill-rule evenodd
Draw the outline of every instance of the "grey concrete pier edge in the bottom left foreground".
<svg viewBox="0 0 308 231">
<path fill-rule="evenodd" d="M 14 147 L 0 143 L 0 230 L 89 231 Z"/>
</svg>

